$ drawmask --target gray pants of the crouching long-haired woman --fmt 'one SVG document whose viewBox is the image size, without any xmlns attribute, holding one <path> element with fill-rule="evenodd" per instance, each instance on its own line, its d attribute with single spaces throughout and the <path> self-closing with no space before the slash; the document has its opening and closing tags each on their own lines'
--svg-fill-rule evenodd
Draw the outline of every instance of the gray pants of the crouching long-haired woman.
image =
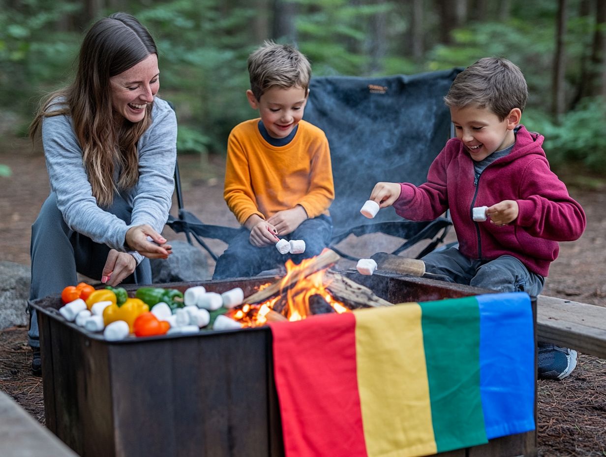
<svg viewBox="0 0 606 457">
<path fill-rule="evenodd" d="M 105 209 L 130 223 L 132 207 L 115 195 L 113 205 Z M 68 228 L 57 208 L 56 195 L 48 195 L 36 222 L 32 225 L 32 285 L 30 300 L 61 293 L 69 285 L 78 283 L 77 273 L 92 279 L 101 279 L 101 273 L 110 248 Z M 124 283 L 151 284 L 151 267 L 144 259 Z M 29 343 L 39 347 L 38 319 L 33 307 L 30 310 Z"/>
</svg>

